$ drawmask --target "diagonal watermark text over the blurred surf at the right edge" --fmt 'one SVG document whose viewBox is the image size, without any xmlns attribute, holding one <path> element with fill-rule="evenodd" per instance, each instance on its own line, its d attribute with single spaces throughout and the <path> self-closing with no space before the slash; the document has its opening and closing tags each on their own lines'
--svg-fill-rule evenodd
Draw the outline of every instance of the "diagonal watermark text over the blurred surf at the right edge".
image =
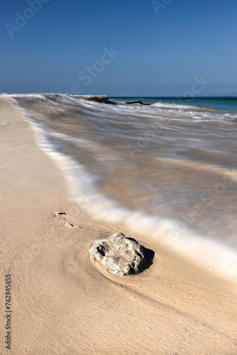
<svg viewBox="0 0 237 355">
<path fill-rule="evenodd" d="M 200 217 L 204 212 L 204 207 L 211 207 L 216 200 L 226 192 L 226 187 L 237 182 L 236 169 L 232 168 L 229 173 L 226 173 L 220 182 L 216 182 L 214 187 L 208 187 L 200 195 L 200 202 L 195 204 L 188 214 L 180 213 L 180 221 L 175 224 L 175 229 L 172 229 L 168 233 L 169 241 L 174 241 L 182 234 L 188 226 L 192 226 L 195 219 Z"/>
</svg>

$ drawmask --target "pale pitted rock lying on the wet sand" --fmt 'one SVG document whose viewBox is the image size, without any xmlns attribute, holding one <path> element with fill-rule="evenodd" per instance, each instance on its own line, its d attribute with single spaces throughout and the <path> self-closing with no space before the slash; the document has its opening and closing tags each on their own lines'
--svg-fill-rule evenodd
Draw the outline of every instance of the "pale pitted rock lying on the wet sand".
<svg viewBox="0 0 237 355">
<path fill-rule="evenodd" d="M 123 233 L 114 233 L 108 239 L 94 244 L 89 249 L 97 261 L 109 266 L 117 275 L 130 275 L 145 268 L 145 251 L 137 241 L 128 239 Z"/>
</svg>

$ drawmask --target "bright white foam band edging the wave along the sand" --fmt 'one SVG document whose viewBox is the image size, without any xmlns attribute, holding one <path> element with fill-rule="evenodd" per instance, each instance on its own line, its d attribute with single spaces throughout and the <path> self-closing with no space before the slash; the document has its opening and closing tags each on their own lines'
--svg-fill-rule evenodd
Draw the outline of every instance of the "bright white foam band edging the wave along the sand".
<svg viewBox="0 0 237 355">
<path fill-rule="evenodd" d="M 237 252 L 209 236 L 195 234 L 191 229 L 180 231 L 180 222 L 175 219 L 152 217 L 143 211 L 121 208 L 106 195 L 101 195 L 95 187 L 94 178 L 82 165 L 55 150 L 48 133 L 40 124 L 31 121 L 40 148 L 48 153 L 65 173 L 69 184 L 70 200 L 87 209 L 95 219 L 106 222 L 127 224 L 141 236 L 150 236 L 184 256 L 196 261 L 200 266 L 237 280 Z"/>
</svg>

